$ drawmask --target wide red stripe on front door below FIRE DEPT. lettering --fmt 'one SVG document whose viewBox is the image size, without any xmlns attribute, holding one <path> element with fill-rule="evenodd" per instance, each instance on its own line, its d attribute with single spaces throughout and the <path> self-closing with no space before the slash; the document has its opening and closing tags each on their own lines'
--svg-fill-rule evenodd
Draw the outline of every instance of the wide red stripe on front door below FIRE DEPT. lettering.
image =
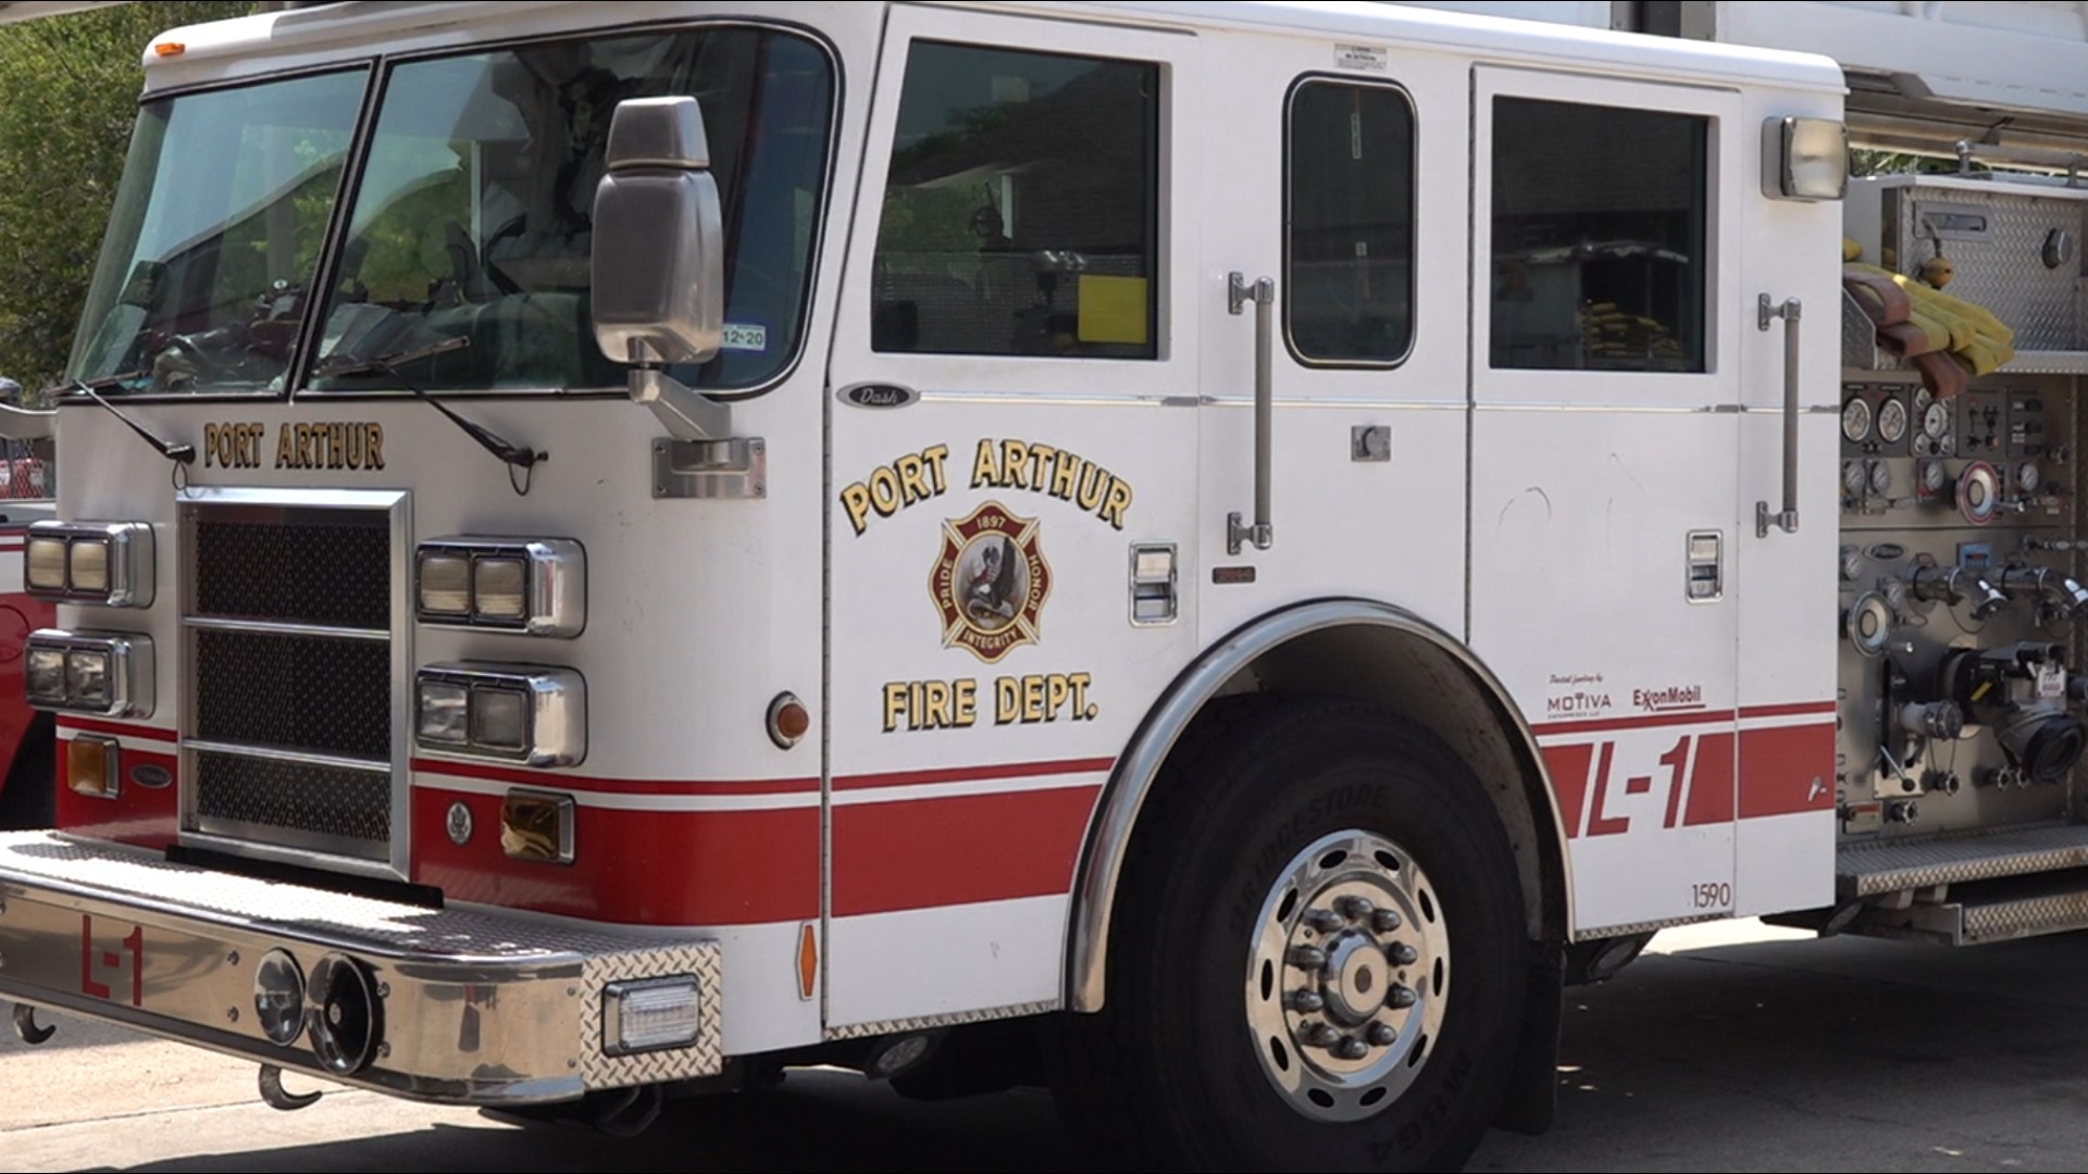
<svg viewBox="0 0 2088 1174">
<path fill-rule="evenodd" d="M 1098 785 L 833 808 L 833 915 L 1071 892 Z"/>
</svg>

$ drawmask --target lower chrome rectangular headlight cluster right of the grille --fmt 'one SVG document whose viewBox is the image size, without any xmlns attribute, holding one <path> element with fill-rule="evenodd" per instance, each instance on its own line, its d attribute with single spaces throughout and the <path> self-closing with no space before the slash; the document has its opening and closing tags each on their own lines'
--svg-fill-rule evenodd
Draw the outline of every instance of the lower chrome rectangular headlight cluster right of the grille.
<svg viewBox="0 0 2088 1174">
<path fill-rule="evenodd" d="M 422 750 L 572 767 L 587 758 L 587 683 L 539 664 L 430 664 L 416 681 Z"/>
</svg>

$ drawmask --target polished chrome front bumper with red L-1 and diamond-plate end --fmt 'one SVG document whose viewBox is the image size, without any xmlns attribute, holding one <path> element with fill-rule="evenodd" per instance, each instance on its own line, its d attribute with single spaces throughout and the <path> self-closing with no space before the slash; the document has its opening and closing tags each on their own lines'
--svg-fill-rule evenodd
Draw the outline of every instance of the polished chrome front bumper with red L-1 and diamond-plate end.
<svg viewBox="0 0 2088 1174">
<path fill-rule="evenodd" d="M 309 978 L 353 959 L 378 994 L 357 1072 L 305 1030 L 263 1032 L 255 971 L 290 953 Z M 603 986 L 691 976 L 691 1047 L 610 1055 Z M 50 831 L 0 836 L 0 999 L 54 1007 L 420 1101 L 524 1105 L 714 1076 L 725 1065 L 716 942 L 422 909 L 173 865 Z"/>
</svg>

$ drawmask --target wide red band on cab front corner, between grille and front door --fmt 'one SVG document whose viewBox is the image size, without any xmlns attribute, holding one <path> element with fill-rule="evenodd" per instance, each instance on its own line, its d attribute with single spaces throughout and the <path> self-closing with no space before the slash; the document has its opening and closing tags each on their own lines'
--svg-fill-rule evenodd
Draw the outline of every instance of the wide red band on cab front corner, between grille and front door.
<svg viewBox="0 0 2088 1174">
<path fill-rule="evenodd" d="M 449 806 L 472 838 L 449 840 Z M 574 811 L 572 865 L 509 861 L 501 796 L 413 790 L 413 879 L 476 900 L 622 925 L 760 925 L 818 917 L 818 808 Z M 785 959 L 787 963 L 787 959 Z M 785 965 L 779 963 L 779 965 Z M 789 967 L 777 971 L 789 978 Z"/>
</svg>

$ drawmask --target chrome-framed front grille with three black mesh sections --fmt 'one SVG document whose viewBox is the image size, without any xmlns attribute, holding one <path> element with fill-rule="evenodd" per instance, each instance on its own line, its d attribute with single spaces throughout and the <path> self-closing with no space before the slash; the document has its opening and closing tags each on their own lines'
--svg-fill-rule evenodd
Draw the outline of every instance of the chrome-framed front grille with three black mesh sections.
<svg viewBox="0 0 2088 1174">
<path fill-rule="evenodd" d="M 399 865 L 403 510 L 351 491 L 184 503 L 188 831 Z"/>
</svg>

